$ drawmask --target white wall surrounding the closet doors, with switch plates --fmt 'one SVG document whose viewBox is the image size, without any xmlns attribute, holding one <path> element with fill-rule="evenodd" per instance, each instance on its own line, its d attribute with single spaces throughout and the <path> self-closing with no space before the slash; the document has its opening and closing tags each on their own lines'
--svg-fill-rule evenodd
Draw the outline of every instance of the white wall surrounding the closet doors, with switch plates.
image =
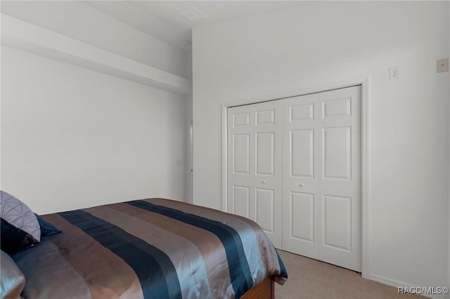
<svg viewBox="0 0 450 299">
<path fill-rule="evenodd" d="M 194 204 L 221 208 L 221 103 L 369 77 L 368 267 L 449 282 L 448 1 L 319 1 L 193 29 Z M 401 79 L 389 81 L 389 67 Z"/>
</svg>

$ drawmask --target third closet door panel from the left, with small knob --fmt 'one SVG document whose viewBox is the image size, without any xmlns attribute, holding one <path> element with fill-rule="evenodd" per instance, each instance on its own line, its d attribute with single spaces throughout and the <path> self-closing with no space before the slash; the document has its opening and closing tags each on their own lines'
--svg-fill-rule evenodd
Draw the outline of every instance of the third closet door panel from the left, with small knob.
<svg viewBox="0 0 450 299">
<path fill-rule="evenodd" d="M 319 258 L 318 95 L 283 100 L 283 249 Z"/>
</svg>

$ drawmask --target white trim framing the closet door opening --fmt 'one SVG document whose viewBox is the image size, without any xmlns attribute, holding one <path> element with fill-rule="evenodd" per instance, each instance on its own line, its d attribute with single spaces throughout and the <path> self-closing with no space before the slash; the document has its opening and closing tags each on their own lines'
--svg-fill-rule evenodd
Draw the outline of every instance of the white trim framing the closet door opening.
<svg viewBox="0 0 450 299">
<path fill-rule="evenodd" d="M 259 98 L 238 100 L 233 102 L 224 102 L 221 104 L 221 118 L 222 118 L 222 211 L 226 212 L 227 208 L 227 187 L 228 187 L 228 167 L 227 167 L 227 109 L 233 106 L 255 104 L 257 102 L 267 102 L 269 100 L 281 100 L 283 98 L 291 98 L 298 95 L 307 95 L 309 93 L 321 93 L 323 91 L 330 91 L 338 88 L 346 88 L 350 86 L 361 85 L 361 275 L 364 278 L 370 279 L 370 246 L 368 240 L 368 227 L 370 225 L 369 219 L 369 161 L 370 155 L 368 149 L 370 148 L 369 138 L 369 82 L 370 77 L 359 77 L 356 79 L 348 79 L 345 81 L 334 82 L 334 84 L 326 84 L 319 86 L 311 86 L 310 88 L 303 88 L 295 94 L 278 94 L 271 96 L 262 96 Z"/>
</svg>

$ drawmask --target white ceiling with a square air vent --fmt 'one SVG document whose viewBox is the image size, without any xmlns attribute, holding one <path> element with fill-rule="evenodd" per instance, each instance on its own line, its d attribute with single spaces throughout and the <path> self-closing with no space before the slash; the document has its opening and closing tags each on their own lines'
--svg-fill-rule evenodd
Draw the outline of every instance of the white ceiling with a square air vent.
<svg viewBox="0 0 450 299">
<path fill-rule="evenodd" d="M 84 1 L 172 46 L 188 51 L 193 27 L 224 22 L 301 4 L 300 1 Z M 207 18 L 191 22 L 179 11 L 194 8 Z"/>
</svg>

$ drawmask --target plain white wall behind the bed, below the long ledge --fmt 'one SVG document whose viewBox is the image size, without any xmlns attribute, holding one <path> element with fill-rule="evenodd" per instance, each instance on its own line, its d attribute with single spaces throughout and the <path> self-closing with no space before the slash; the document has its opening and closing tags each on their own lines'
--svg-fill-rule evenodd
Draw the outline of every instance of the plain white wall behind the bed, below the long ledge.
<svg viewBox="0 0 450 299">
<path fill-rule="evenodd" d="M 1 188 L 36 213 L 184 200 L 185 157 L 184 96 L 1 47 Z"/>
</svg>

